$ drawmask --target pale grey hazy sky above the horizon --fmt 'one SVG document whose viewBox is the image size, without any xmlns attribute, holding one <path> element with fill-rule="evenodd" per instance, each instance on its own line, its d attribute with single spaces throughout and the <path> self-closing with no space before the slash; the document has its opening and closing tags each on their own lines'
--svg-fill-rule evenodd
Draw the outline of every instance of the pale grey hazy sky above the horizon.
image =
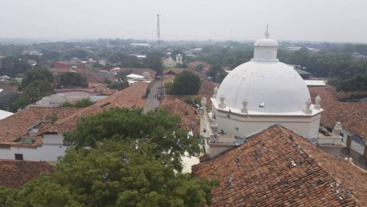
<svg viewBox="0 0 367 207">
<path fill-rule="evenodd" d="M 0 38 L 367 42 L 367 0 L 0 0 Z"/>
</svg>

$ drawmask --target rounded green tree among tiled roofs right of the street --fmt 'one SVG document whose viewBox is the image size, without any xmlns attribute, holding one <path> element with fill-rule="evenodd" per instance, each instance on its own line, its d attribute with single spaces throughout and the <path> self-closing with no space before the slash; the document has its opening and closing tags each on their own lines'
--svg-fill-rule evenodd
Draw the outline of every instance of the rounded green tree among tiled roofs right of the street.
<svg viewBox="0 0 367 207">
<path fill-rule="evenodd" d="M 199 92 L 201 86 L 200 77 L 191 71 L 183 71 L 176 75 L 172 94 L 174 95 L 195 95 Z"/>
</svg>

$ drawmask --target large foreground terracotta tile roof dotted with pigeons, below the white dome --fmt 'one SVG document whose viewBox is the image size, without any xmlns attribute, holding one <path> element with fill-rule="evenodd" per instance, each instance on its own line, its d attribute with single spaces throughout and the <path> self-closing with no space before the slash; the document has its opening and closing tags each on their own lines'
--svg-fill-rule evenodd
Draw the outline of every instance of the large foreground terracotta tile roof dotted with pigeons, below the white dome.
<svg viewBox="0 0 367 207">
<path fill-rule="evenodd" d="M 260 150 L 258 158 L 256 149 Z M 219 186 L 213 189 L 212 206 L 367 205 L 366 174 L 279 125 L 251 136 L 218 157 L 193 165 L 192 174 L 219 179 Z M 342 199 L 335 196 L 330 184 Z M 346 196 L 342 188 L 352 195 Z"/>
</svg>

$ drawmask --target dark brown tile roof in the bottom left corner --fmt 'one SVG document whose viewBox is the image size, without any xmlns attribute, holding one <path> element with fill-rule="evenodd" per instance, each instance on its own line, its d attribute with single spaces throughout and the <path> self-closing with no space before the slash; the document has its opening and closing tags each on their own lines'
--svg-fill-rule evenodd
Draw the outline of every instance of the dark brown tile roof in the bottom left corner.
<svg viewBox="0 0 367 207">
<path fill-rule="evenodd" d="M 55 167 L 46 162 L 0 160 L 0 185 L 19 188 L 41 172 L 50 175 L 54 171 Z"/>
</svg>

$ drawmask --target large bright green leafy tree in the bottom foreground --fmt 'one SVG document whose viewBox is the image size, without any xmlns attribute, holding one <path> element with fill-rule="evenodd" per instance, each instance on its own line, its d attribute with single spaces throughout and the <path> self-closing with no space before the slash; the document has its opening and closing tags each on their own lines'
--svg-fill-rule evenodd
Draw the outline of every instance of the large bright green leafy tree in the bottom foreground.
<svg viewBox="0 0 367 207">
<path fill-rule="evenodd" d="M 120 141 L 117 141 L 120 140 Z M 41 175 L 17 191 L 0 188 L 7 206 L 206 206 L 218 181 L 175 173 L 154 143 L 100 140 L 70 150 L 51 176 Z M 108 175 L 106 176 L 106 174 Z M 104 176 L 104 177 L 103 177 Z"/>
</svg>

